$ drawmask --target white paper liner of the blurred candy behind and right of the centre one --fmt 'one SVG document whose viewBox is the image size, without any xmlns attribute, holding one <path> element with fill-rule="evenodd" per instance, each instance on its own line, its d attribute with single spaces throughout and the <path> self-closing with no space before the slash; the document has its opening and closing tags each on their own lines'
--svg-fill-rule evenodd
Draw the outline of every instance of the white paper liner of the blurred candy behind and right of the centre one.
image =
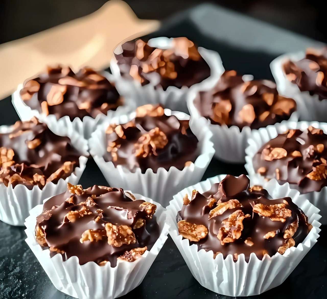
<svg viewBox="0 0 327 299">
<path fill-rule="evenodd" d="M 250 79 L 248 75 L 244 77 L 244 79 Z M 212 89 L 215 84 L 216 82 L 211 82 L 206 86 L 206 89 L 204 90 L 208 91 Z M 193 118 L 195 121 L 202 120 L 202 122 L 204 122 L 204 124 L 213 133 L 212 142 L 214 143 L 215 148 L 215 158 L 229 163 L 244 163 L 245 149 L 247 147 L 248 138 L 251 135 L 252 129 L 248 126 L 245 126 L 240 130 L 240 128 L 237 126 L 228 127 L 226 124 L 212 124 L 209 119 L 206 119 L 200 115 L 198 108 L 194 105 L 194 101 L 199 96 L 198 92 L 199 90 L 194 88 L 188 94 L 188 110 L 190 111 L 191 118 Z M 298 121 L 297 112 L 293 112 L 289 120 Z"/>
</svg>

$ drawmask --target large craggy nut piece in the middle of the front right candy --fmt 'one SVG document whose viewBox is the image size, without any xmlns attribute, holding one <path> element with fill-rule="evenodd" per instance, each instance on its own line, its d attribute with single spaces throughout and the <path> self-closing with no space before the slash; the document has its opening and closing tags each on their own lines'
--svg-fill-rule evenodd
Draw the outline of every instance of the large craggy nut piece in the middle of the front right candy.
<svg viewBox="0 0 327 299">
<path fill-rule="evenodd" d="M 243 220 L 248 217 L 250 217 L 249 214 L 244 215 L 241 210 L 237 210 L 229 215 L 228 218 L 224 219 L 221 222 L 223 226 L 219 229 L 219 233 L 217 234 L 220 244 L 224 245 L 225 243 L 237 240 L 241 236 L 244 228 Z"/>
</svg>

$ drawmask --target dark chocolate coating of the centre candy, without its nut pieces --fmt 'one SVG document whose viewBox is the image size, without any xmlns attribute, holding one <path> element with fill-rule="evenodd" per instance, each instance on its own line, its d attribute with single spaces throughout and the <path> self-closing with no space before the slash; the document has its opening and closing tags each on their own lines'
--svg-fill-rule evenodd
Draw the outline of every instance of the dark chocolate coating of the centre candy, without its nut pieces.
<svg viewBox="0 0 327 299">
<path fill-rule="evenodd" d="M 131 123 L 132 126 L 129 126 L 130 123 L 121 126 L 124 132 L 123 138 L 118 137 L 115 131 L 107 134 L 107 144 L 117 142 L 119 147 L 116 152 L 117 159 L 113 159 L 112 154 L 106 152 L 103 157 L 105 161 L 112 161 L 115 166 L 123 165 L 131 172 L 141 168 L 142 173 L 145 173 L 150 168 L 156 173 L 159 167 L 169 170 L 170 167 L 175 166 L 182 170 L 186 162 L 195 162 L 197 159 L 198 139 L 189 128 L 189 121 L 180 121 L 176 116 L 163 114 L 136 117 Z M 186 128 L 185 132 L 183 127 Z M 146 157 L 137 156 L 135 144 L 139 138 L 154 128 L 159 128 L 166 135 L 167 144 L 163 148 L 157 148 L 156 155 L 150 150 Z"/>
</svg>

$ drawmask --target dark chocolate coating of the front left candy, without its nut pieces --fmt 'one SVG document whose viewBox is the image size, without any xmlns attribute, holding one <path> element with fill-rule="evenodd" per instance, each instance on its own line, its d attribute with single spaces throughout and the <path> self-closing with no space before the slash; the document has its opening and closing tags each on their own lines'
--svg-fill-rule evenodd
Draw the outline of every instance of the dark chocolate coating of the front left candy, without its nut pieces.
<svg viewBox="0 0 327 299">
<path fill-rule="evenodd" d="M 77 218 L 74 222 L 64 220 L 65 215 L 70 211 L 78 211 L 82 207 L 78 205 L 85 202 L 88 197 L 93 196 L 95 205 L 87 206 L 90 214 Z M 71 198 L 70 198 L 71 197 Z M 66 199 L 70 198 L 67 202 Z M 110 261 L 111 267 L 117 264 L 117 257 L 138 247 L 147 246 L 150 250 L 159 237 L 159 226 L 156 222 L 156 217 L 152 219 L 146 218 L 146 213 L 140 209 L 140 204 L 144 200 L 132 200 L 124 193 L 123 189 L 108 188 L 102 186 L 93 186 L 84 190 L 83 195 L 70 193 L 68 190 L 62 194 L 51 197 L 44 203 L 43 213 L 37 217 L 37 226 L 42 227 L 47 246 L 54 247 L 61 251 L 63 260 L 71 256 L 77 256 L 79 264 L 83 265 L 87 262 L 94 261 L 101 263 Z M 101 209 L 103 212 L 98 213 Z M 49 215 L 51 215 L 49 217 Z M 97 217 L 101 219 L 95 221 Z M 146 225 L 133 229 L 137 219 L 146 219 Z M 114 225 L 128 225 L 132 227 L 135 234 L 136 242 L 134 244 L 123 244 L 120 247 L 115 247 L 108 244 L 106 237 L 105 224 L 112 223 Z M 103 238 L 98 241 L 80 242 L 80 238 L 86 230 L 104 231 Z M 57 252 L 50 251 L 53 256 Z"/>
</svg>

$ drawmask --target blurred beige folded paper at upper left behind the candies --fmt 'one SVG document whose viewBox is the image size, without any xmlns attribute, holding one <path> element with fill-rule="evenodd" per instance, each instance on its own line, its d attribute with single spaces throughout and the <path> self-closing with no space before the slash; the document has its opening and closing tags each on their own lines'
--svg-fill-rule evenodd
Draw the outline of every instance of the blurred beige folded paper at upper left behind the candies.
<svg viewBox="0 0 327 299">
<path fill-rule="evenodd" d="M 85 17 L 0 46 L 0 99 L 46 65 L 78 69 L 109 66 L 113 49 L 124 39 L 156 30 L 159 21 L 140 20 L 123 1 L 112 0 Z"/>
</svg>

